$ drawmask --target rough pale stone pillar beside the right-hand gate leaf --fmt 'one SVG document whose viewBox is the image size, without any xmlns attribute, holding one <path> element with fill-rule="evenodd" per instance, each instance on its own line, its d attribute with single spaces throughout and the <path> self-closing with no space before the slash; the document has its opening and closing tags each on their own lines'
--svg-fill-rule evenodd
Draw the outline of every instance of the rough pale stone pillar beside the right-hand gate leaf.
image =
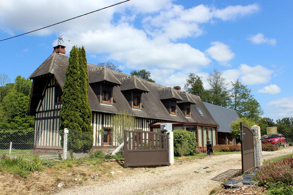
<svg viewBox="0 0 293 195">
<path fill-rule="evenodd" d="M 261 138 L 260 138 L 260 126 L 253 125 L 251 127 L 253 132 L 253 144 L 254 144 L 254 163 L 255 167 L 263 165 L 263 154 L 261 151 Z"/>
</svg>

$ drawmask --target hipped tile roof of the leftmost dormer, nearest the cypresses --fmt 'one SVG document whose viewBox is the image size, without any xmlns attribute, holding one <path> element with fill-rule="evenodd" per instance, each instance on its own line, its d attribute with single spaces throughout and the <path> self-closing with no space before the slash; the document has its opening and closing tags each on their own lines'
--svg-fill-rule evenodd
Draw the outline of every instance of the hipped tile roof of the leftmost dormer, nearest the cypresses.
<svg viewBox="0 0 293 195">
<path fill-rule="evenodd" d="M 114 83 L 114 85 L 122 84 L 106 66 L 93 68 L 88 75 L 88 83 L 98 83 L 102 81 L 108 81 Z"/>
</svg>

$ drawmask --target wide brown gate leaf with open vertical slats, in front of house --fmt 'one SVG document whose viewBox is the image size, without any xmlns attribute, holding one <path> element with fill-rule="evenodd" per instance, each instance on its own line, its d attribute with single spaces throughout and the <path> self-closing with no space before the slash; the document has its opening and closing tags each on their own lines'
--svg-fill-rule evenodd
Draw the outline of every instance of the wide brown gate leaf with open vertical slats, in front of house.
<svg viewBox="0 0 293 195">
<path fill-rule="evenodd" d="M 124 130 L 124 166 L 170 165 L 169 135 Z"/>
</svg>

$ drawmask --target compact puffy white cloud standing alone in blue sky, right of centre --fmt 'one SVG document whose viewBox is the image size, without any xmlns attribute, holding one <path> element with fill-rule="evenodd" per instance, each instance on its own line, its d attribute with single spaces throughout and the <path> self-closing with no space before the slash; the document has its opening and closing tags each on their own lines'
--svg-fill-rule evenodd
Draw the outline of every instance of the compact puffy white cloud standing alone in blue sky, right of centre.
<svg viewBox="0 0 293 195">
<path fill-rule="evenodd" d="M 228 61 L 235 57 L 228 45 L 222 42 L 211 42 L 212 47 L 208 48 L 206 52 L 220 64 L 227 65 Z"/>
</svg>

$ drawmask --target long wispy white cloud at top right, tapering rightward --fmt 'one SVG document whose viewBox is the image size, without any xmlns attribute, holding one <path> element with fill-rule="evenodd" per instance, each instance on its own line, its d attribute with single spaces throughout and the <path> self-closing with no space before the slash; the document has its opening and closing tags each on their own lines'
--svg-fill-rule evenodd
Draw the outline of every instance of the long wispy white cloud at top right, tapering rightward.
<svg viewBox="0 0 293 195">
<path fill-rule="evenodd" d="M 171 7 L 162 9 L 158 15 L 144 18 L 143 24 L 145 30 L 152 36 L 163 34 L 176 40 L 202 35 L 204 30 L 198 24 L 209 23 L 213 18 L 224 21 L 235 20 L 237 17 L 255 13 L 259 9 L 258 4 L 228 6 L 223 9 L 202 4 L 185 9 L 182 5 L 173 4 Z"/>
</svg>

